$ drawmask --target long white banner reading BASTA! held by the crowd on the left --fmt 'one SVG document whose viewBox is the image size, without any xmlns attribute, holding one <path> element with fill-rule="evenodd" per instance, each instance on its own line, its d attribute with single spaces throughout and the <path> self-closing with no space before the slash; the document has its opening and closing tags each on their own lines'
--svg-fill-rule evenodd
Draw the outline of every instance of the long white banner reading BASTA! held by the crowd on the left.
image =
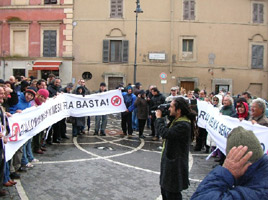
<svg viewBox="0 0 268 200">
<path fill-rule="evenodd" d="M 8 119 L 10 135 L 5 145 L 6 160 L 30 138 L 63 118 L 96 116 L 124 112 L 126 106 L 120 90 L 92 95 L 60 94 L 38 107 L 30 107 Z"/>
</svg>

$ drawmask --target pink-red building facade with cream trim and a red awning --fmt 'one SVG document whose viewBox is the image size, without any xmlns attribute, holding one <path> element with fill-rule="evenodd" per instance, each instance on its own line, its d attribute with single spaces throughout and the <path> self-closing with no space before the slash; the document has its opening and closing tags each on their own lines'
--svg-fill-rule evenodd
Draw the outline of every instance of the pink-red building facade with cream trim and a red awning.
<svg viewBox="0 0 268 200">
<path fill-rule="evenodd" d="M 0 1 L 0 77 L 72 80 L 73 0 Z"/>
</svg>

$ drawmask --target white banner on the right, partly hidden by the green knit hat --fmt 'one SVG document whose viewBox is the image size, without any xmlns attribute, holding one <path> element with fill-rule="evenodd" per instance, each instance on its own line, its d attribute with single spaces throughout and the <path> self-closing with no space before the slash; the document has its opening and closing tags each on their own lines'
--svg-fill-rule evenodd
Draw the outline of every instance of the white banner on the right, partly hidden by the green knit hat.
<svg viewBox="0 0 268 200">
<path fill-rule="evenodd" d="M 252 130 L 260 141 L 264 153 L 268 150 L 268 128 L 258 124 L 252 124 L 250 121 L 239 121 L 233 118 L 221 115 L 218 108 L 213 107 L 206 101 L 197 101 L 198 107 L 198 126 L 205 128 L 216 142 L 217 147 L 225 154 L 227 136 L 233 128 L 242 126 L 247 130 Z"/>
</svg>

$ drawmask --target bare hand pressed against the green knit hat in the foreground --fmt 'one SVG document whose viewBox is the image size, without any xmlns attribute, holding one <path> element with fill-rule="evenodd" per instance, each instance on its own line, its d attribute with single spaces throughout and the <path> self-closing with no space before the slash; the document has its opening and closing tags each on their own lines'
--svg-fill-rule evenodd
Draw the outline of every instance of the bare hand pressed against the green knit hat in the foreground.
<svg viewBox="0 0 268 200">
<path fill-rule="evenodd" d="M 228 153 L 223 167 L 228 169 L 235 179 L 243 176 L 248 167 L 252 164 L 248 162 L 252 156 L 252 151 L 249 151 L 246 155 L 248 147 L 240 145 L 239 147 L 233 147 Z"/>
</svg>

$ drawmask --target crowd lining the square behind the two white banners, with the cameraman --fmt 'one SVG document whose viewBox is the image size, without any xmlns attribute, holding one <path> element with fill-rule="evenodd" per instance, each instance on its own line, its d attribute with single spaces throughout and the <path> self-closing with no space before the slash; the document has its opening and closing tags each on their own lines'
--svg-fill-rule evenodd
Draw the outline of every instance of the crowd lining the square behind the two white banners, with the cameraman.
<svg viewBox="0 0 268 200">
<path fill-rule="evenodd" d="M 195 151 L 204 150 L 206 153 L 213 152 L 213 156 L 219 157 L 220 165 L 223 165 L 225 155 L 223 152 L 216 149 L 216 144 L 208 135 L 206 129 L 196 127 L 196 114 L 192 110 L 196 110 L 196 101 L 207 101 L 214 107 L 219 109 L 222 115 L 239 118 L 239 120 L 250 120 L 253 124 L 268 126 L 268 119 L 265 116 L 265 102 L 257 98 L 252 99 L 249 92 L 244 92 L 235 100 L 227 92 L 220 91 L 219 94 L 207 94 L 205 90 L 186 91 L 184 88 L 174 86 L 170 89 L 170 94 L 165 97 L 160 93 L 155 85 L 150 85 L 148 90 L 142 89 L 142 84 L 137 82 L 135 85 L 119 84 L 116 88 L 122 91 L 122 96 L 126 106 L 126 111 L 121 113 L 121 128 L 122 136 L 133 137 L 133 131 L 137 131 L 139 138 L 145 139 L 143 134 L 144 128 L 151 129 L 151 137 L 153 141 L 158 141 L 161 138 L 164 142 L 164 149 L 162 159 L 169 159 L 169 157 L 178 158 L 179 154 L 174 154 L 174 148 L 177 145 L 182 146 L 181 153 L 183 155 L 183 162 L 178 162 L 178 167 L 184 171 L 188 170 L 188 142 L 196 141 L 194 147 Z M 97 93 L 106 92 L 106 84 L 100 83 Z M 31 106 L 40 106 L 46 102 L 47 98 L 53 98 L 61 93 L 72 93 L 76 95 L 89 95 L 90 90 L 85 85 L 85 80 L 81 79 L 76 85 L 68 83 L 66 87 L 61 86 L 61 79 L 53 74 L 50 74 L 47 80 L 37 80 L 34 77 L 14 77 L 10 76 L 8 81 L 0 80 L 0 118 L 2 129 L 0 138 L 3 143 L 7 142 L 5 137 L 9 132 L 7 118 L 12 114 L 20 113 L 24 109 Z M 185 103 L 186 102 L 186 103 Z M 195 102 L 195 103 L 194 103 Z M 166 118 L 163 118 L 162 110 L 159 113 L 159 106 L 167 105 L 166 110 L 170 113 Z M 170 107 L 169 107 L 170 106 Z M 179 112 L 178 112 L 179 111 Z M 161 120 L 159 119 L 161 118 Z M 165 129 L 167 119 L 171 122 L 168 129 Z M 47 145 L 53 143 L 60 143 L 63 139 L 69 139 L 66 135 L 66 123 L 72 124 L 72 137 L 85 134 L 86 125 L 87 130 L 90 130 L 90 116 L 87 117 L 68 117 L 56 122 L 48 130 L 44 130 L 28 140 L 13 156 L 13 158 L 6 162 L 4 159 L 4 147 L 1 142 L 0 152 L 0 196 L 5 196 L 6 191 L 3 186 L 10 187 L 16 184 L 14 179 L 20 178 L 20 173 L 26 172 L 27 169 L 34 167 L 34 163 L 38 162 L 34 157 L 36 154 L 44 154 L 47 150 Z M 95 127 L 93 135 L 106 136 L 107 115 L 95 116 Z M 172 129 L 170 129 L 172 127 Z M 182 128 L 183 127 L 183 128 Z M 170 130 L 169 130 L 170 129 Z M 173 132 L 171 131 L 173 130 Z M 185 137 L 176 136 L 178 132 L 186 131 Z M 48 133 L 47 133 L 48 132 Z M 170 139 L 174 139 L 174 142 Z M 190 139 L 189 139 L 190 138 Z M 179 139 L 179 140 L 178 140 Z M 189 139 L 189 140 L 188 140 Z M 183 145 L 182 145 L 183 143 Z M 172 197 L 171 192 L 176 190 L 172 185 L 166 187 L 167 179 L 172 179 L 172 174 L 166 171 L 167 161 L 163 161 L 163 168 L 161 174 L 163 185 L 161 191 L 163 196 Z M 161 164 L 162 167 L 162 164 Z M 186 172 L 185 171 L 185 172 Z M 182 183 L 177 183 L 180 190 L 188 187 L 188 172 L 176 172 L 182 177 Z M 165 183 L 165 184 L 164 184 Z M 169 184 L 172 184 L 171 182 Z"/>
</svg>

